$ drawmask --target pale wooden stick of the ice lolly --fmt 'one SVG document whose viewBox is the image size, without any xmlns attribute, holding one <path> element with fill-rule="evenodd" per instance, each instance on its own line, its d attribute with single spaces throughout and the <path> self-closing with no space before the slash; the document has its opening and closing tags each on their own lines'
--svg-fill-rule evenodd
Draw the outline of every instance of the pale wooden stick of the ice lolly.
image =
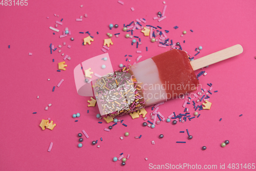
<svg viewBox="0 0 256 171">
<path fill-rule="evenodd" d="M 229 48 L 223 49 L 221 51 L 206 55 L 196 60 L 190 61 L 190 65 L 194 71 L 217 63 L 219 61 L 228 59 L 233 56 L 237 56 L 243 52 L 243 47 L 241 45 L 234 45 Z"/>
</svg>

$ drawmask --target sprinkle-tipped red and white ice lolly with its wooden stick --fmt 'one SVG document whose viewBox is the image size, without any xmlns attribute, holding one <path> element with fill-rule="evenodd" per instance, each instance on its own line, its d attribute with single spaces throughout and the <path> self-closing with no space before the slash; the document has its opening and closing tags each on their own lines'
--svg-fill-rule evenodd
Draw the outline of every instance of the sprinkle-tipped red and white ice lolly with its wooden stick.
<svg viewBox="0 0 256 171">
<path fill-rule="evenodd" d="M 235 45 L 189 61 L 185 51 L 173 49 L 106 74 L 92 81 L 100 114 L 120 116 L 193 92 L 199 86 L 195 70 L 242 52 Z"/>
</svg>

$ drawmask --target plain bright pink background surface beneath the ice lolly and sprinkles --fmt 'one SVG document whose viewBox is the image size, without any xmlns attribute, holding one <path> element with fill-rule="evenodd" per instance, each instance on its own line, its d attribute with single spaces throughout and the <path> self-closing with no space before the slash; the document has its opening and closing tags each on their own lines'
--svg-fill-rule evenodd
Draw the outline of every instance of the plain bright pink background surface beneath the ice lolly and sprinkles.
<svg viewBox="0 0 256 171">
<path fill-rule="evenodd" d="M 150 163 L 197 163 L 202 167 L 217 164 L 219 169 L 220 163 L 225 163 L 226 168 L 229 163 L 255 163 L 256 2 L 166 1 L 167 18 L 160 23 L 153 17 L 163 10 L 162 1 L 123 2 L 124 5 L 117 1 L 28 1 L 28 6 L 0 6 L 0 169 L 147 170 Z M 75 21 L 85 13 L 88 18 L 83 17 L 82 22 Z M 49 19 L 46 18 L 48 16 Z M 54 31 L 49 27 L 54 27 L 56 20 L 61 18 L 63 25 L 57 28 L 60 32 L 53 35 Z M 236 44 L 241 44 L 244 52 L 203 69 L 207 76 L 201 76 L 200 83 L 208 89 L 207 83 L 211 82 L 213 91 L 219 92 L 210 96 L 212 108 L 200 111 L 199 118 L 176 125 L 164 122 L 150 129 L 142 127 L 142 118 L 133 120 L 126 115 L 119 118 L 127 127 L 118 123 L 111 132 L 105 132 L 103 129 L 110 124 L 104 120 L 99 124 L 96 118 L 98 108 L 88 108 L 89 97 L 77 94 L 73 70 L 80 62 L 103 53 L 103 39 L 109 38 L 106 36 L 108 32 L 120 33 L 118 38 L 113 36 L 114 45 L 108 51 L 114 70 L 118 69 L 119 63 L 129 63 L 125 61 L 125 54 L 133 55 L 129 57 L 133 64 L 140 55 L 136 50 L 142 51 L 141 61 L 169 50 L 150 42 L 139 30 L 134 35 L 141 37 L 142 45 L 138 49 L 131 46 L 132 39 L 126 39 L 121 29 L 123 24 L 137 18 L 145 18 L 146 24 L 169 30 L 168 38 L 181 42 L 182 48 L 191 55 L 196 54 L 195 48 L 202 46 L 203 50 L 195 58 Z M 109 30 L 111 23 L 119 27 Z M 175 30 L 174 26 L 179 28 Z M 72 36 L 59 38 L 66 27 L 72 31 Z M 191 33 L 190 29 L 194 32 Z M 187 34 L 181 37 L 183 30 Z M 90 46 L 81 45 L 88 35 L 79 34 L 80 31 L 89 31 L 94 36 Z M 75 40 L 71 41 L 70 37 Z M 185 44 L 183 40 L 186 40 Z M 72 46 L 71 49 L 67 45 L 61 48 L 72 59 L 66 60 L 66 71 L 56 72 L 57 63 L 63 61 L 63 57 L 57 52 L 58 48 L 50 54 L 49 45 L 52 43 L 57 47 L 63 41 Z M 148 47 L 147 52 L 145 47 Z M 29 52 L 33 55 L 29 56 Z M 53 58 L 55 62 L 52 62 Z M 51 81 L 47 81 L 48 78 Z M 52 92 L 53 86 L 57 86 L 61 79 L 65 81 Z M 165 117 L 172 112 L 182 113 L 183 102 L 181 99 L 169 100 L 160 106 L 159 111 Z M 49 103 L 53 105 L 45 111 Z M 191 104 L 189 109 L 190 113 L 194 111 Z M 151 112 L 151 108 L 146 110 Z M 74 122 L 76 119 L 72 115 L 77 112 L 81 116 L 78 122 Z M 239 117 L 240 114 L 243 116 Z M 42 131 L 39 123 L 48 117 L 57 125 L 53 131 Z M 179 133 L 186 129 L 193 135 L 192 140 L 187 140 L 186 133 Z M 90 138 L 83 135 L 83 147 L 78 148 L 77 134 L 82 130 Z M 125 132 L 130 136 L 120 140 Z M 160 134 L 164 135 L 163 139 L 158 138 Z M 139 135 L 142 135 L 141 139 L 134 138 Z M 222 148 L 220 144 L 226 139 L 230 144 Z M 93 140 L 98 140 L 100 148 L 91 145 Z M 151 144 L 152 140 L 155 145 Z M 54 144 L 49 153 L 50 142 Z M 203 145 L 207 147 L 205 151 L 201 150 Z M 125 166 L 121 166 L 121 161 L 113 162 L 113 157 L 119 157 L 121 153 L 125 157 L 131 155 Z"/>
</svg>

